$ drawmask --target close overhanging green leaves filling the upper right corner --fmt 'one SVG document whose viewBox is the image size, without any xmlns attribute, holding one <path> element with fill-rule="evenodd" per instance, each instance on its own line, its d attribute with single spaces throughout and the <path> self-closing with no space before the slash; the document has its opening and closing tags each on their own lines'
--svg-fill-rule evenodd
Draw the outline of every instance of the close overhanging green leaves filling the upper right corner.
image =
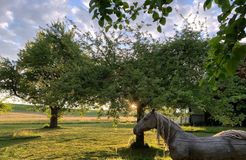
<svg viewBox="0 0 246 160">
<path fill-rule="evenodd" d="M 206 0 L 204 9 L 209 9 L 215 2 L 222 10 L 218 15 L 220 30 L 217 36 L 211 39 L 209 56 L 207 60 L 206 80 L 212 84 L 217 78 L 225 78 L 233 75 L 239 64 L 243 62 L 246 55 L 246 45 L 240 40 L 246 37 L 244 0 Z"/>
</svg>

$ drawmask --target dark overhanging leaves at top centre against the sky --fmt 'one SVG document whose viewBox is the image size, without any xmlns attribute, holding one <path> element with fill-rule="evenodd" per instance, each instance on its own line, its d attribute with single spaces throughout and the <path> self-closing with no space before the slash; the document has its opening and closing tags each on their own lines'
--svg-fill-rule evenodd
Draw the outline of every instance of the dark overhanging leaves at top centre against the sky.
<svg viewBox="0 0 246 160">
<path fill-rule="evenodd" d="M 98 19 L 98 24 L 101 27 L 105 26 L 106 31 L 112 26 L 115 29 L 122 29 L 123 24 L 129 24 L 139 16 L 139 13 L 144 12 L 152 16 L 153 21 L 158 24 L 157 30 L 161 32 L 161 25 L 165 25 L 166 17 L 172 11 L 169 5 L 172 1 L 145 0 L 141 4 L 137 1 L 129 3 L 122 0 L 91 0 L 89 12 L 93 12 L 92 19 Z"/>
</svg>

